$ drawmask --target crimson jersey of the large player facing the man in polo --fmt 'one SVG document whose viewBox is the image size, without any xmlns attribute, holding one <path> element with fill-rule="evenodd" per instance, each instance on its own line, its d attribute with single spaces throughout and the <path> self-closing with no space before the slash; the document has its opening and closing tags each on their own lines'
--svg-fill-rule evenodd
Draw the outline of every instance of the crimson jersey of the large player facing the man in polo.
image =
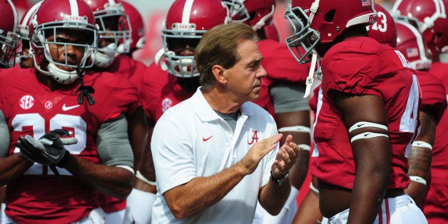
<svg viewBox="0 0 448 224">
<path fill-rule="evenodd" d="M 352 146 L 342 112 L 330 93 L 375 95 L 382 98 L 389 116 L 392 169 L 387 189 L 407 188 L 407 154 L 419 128 L 421 95 L 414 70 L 404 56 L 369 37 L 355 37 L 327 51 L 322 74 L 313 135 L 319 156 L 317 166 L 310 168 L 312 175 L 352 189 L 356 175 Z"/>
</svg>

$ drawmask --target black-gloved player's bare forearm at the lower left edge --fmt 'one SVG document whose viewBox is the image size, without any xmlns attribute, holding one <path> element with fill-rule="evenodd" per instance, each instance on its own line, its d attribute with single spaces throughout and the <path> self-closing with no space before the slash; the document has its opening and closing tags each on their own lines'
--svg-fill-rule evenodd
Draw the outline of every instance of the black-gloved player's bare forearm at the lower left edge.
<svg viewBox="0 0 448 224">
<path fill-rule="evenodd" d="M 0 158 L 0 186 L 8 184 L 19 175 L 24 174 L 31 166 L 33 163 L 26 160 L 21 153 Z"/>
</svg>

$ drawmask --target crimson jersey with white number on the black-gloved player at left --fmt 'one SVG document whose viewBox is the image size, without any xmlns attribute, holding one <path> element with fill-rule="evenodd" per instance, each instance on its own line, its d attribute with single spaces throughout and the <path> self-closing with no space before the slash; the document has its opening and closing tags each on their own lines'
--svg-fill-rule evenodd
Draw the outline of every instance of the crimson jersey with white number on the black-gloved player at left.
<svg viewBox="0 0 448 224">
<path fill-rule="evenodd" d="M 86 73 L 84 83 L 92 86 L 96 103 L 86 98 L 78 104 L 79 82 L 55 91 L 36 78 L 34 68 L 0 71 L 0 109 L 11 133 L 9 155 L 19 152 L 19 136 L 38 139 L 56 128 L 73 132 L 78 143 L 65 146 L 72 155 L 100 163 L 96 137 L 101 124 L 128 113 L 138 103 L 138 92 L 125 78 L 111 73 Z M 48 166 L 35 163 L 24 175 L 8 184 L 6 214 L 17 223 L 71 223 L 98 208 L 98 191 L 71 173 L 58 168 L 58 180 Z"/>
</svg>

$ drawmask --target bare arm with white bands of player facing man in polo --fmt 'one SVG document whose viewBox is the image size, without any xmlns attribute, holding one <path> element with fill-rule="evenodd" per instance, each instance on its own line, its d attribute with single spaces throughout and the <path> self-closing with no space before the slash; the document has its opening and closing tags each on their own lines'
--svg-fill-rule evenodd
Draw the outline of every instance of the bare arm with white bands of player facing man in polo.
<svg viewBox="0 0 448 224">
<path fill-rule="evenodd" d="M 342 111 L 343 122 L 350 128 L 360 121 L 387 126 L 388 116 L 382 99 L 378 96 L 347 96 L 335 94 L 335 104 Z M 350 133 L 371 131 L 388 134 L 381 128 L 361 128 Z M 347 223 L 373 223 L 387 189 L 392 163 L 390 139 L 386 137 L 365 138 L 352 142 L 356 177 L 350 198 L 350 214 Z"/>
</svg>

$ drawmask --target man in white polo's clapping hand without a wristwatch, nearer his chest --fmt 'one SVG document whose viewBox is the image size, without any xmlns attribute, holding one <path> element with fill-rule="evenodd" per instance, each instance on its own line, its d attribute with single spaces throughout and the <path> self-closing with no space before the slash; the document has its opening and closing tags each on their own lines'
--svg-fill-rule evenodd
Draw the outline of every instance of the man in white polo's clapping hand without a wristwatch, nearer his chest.
<svg viewBox="0 0 448 224">
<path fill-rule="evenodd" d="M 282 134 L 277 134 L 269 138 L 263 139 L 258 143 L 254 143 L 252 148 L 248 151 L 246 156 L 240 161 L 245 168 L 248 169 L 248 173 L 253 173 L 258 167 L 258 163 L 266 156 L 270 151 L 273 151 L 277 143 L 282 139 Z"/>
</svg>

